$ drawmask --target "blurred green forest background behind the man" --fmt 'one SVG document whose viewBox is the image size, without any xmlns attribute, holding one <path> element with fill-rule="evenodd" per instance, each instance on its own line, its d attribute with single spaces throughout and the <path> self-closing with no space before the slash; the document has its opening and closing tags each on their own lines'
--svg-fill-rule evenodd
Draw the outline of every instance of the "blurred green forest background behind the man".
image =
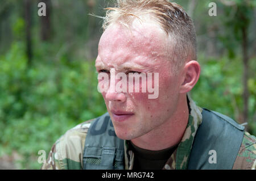
<svg viewBox="0 0 256 181">
<path fill-rule="evenodd" d="M 39 2 L 46 16 L 39 16 Z M 201 77 L 196 103 L 256 134 L 256 1 L 175 1 L 197 32 Z M 210 2 L 217 16 L 209 16 Z M 0 169 L 39 169 L 68 129 L 106 112 L 94 61 L 101 0 L 0 0 Z"/>
</svg>

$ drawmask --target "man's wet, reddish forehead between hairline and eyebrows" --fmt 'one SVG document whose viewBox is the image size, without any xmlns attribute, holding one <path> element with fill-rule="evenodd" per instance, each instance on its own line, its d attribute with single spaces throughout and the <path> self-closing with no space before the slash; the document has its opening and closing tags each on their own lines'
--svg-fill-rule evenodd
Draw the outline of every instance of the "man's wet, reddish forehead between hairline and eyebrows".
<svg viewBox="0 0 256 181">
<path fill-rule="evenodd" d="M 129 30 L 114 24 L 102 34 L 96 66 L 112 63 L 118 66 L 147 66 L 158 64 L 158 59 L 166 56 L 166 34 L 159 27 L 150 23 L 138 23 Z"/>
</svg>

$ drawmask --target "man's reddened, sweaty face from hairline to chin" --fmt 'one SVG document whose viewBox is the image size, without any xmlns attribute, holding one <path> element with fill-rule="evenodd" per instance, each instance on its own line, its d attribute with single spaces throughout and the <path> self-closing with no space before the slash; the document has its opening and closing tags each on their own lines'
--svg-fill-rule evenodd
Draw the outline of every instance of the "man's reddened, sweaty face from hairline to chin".
<svg viewBox="0 0 256 181">
<path fill-rule="evenodd" d="M 136 27 L 133 28 L 133 27 Z M 171 120 L 179 100 L 181 76 L 172 74 L 171 46 L 163 30 L 150 23 L 135 23 L 129 30 L 113 24 L 102 34 L 98 45 L 96 68 L 110 79 L 118 73 L 158 73 L 159 95 L 149 99 L 147 92 L 117 92 L 109 79 L 108 92 L 102 92 L 115 133 L 123 140 L 132 140 L 152 133 Z M 114 70 L 114 71 L 113 71 Z M 115 74 L 115 75 L 114 75 Z M 115 84 L 119 79 L 115 79 Z M 140 86 L 146 86 L 148 79 Z M 127 86 L 128 87 L 128 86 Z"/>
</svg>

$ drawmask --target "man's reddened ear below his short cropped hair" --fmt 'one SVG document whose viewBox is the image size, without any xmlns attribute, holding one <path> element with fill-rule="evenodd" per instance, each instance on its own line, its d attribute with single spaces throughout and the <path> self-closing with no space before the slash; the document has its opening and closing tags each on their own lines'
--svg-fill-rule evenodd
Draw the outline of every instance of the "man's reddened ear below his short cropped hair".
<svg viewBox="0 0 256 181">
<path fill-rule="evenodd" d="M 180 93 L 186 93 L 196 85 L 200 75 L 199 62 L 192 60 L 185 64 L 183 68 L 183 83 L 180 86 Z"/>
</svg>

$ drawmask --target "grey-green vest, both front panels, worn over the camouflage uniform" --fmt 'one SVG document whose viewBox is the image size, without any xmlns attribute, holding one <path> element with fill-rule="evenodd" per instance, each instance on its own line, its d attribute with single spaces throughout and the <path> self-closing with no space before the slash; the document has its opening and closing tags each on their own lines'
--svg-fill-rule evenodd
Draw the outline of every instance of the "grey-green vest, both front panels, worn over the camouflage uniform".
<svg viewBox="0 0 256 181">
<path fill-rule="evenodd" d="M 204 109 L 188 169 L 232 169 L 243 130 L 244 127 L 228 116 Z M 212 150 L 216 151 L 216 163 L 209 161 L 209 157 L 214 157 Z M 105 113 L 93 121 L 86 135 L 83 169 L 123 169 L 123 152 L 123 140 L 115 135 L 110 116 Z"/>
</svg>

